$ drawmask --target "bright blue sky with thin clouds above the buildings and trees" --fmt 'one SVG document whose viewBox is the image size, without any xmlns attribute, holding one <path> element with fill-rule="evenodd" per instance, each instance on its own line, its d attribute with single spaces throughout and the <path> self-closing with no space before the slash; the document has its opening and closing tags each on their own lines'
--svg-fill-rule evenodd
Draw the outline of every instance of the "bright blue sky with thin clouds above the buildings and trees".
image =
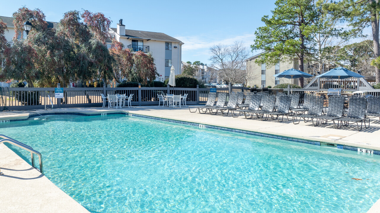
<svg viewBox="0 0 380 213">
<path fill-rule="evenodd" d="M 182 61 L 209 63 L 213 44 L 243 41 L 253 44 L 261 17 L 270 15 L 275 0 L 237 1 L 6 1 L 0 16 L 12 16 L 21 6 L 40 8 L 46 20 L 58 22 L 63 13 L 87 9 L 104 13 L 116 27 L 119 19 L 127 29 L 166 33 L 184 42 Z M 252 53 L 253 55 L 253 53 Z"/>
</svg>

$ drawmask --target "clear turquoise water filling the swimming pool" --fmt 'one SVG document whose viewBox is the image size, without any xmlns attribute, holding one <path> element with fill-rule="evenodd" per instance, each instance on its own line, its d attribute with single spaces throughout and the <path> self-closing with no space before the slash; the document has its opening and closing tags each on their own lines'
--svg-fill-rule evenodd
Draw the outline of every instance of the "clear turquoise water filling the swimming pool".
<svg viewBox="0 0 380 213">
<path fill-rule="evenodd" d="M 376 155 L 125 115 L 33 119 L 0 133 L 90 212 L 365 213 L 380 198 Z"/>
</svg>

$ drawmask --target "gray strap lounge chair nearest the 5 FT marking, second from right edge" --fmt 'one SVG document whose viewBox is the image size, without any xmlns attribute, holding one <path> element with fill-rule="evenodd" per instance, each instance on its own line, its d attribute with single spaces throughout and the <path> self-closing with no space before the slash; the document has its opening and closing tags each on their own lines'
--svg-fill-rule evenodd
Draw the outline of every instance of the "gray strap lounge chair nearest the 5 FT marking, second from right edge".
<svg viewBox="0 0 380 213">
<path fill-rule="evenodd" d="M 358 128 L 358 131 L 360 131 L 363 128 L 363 122 L 364 122 L 364 127 L 367 128 L 366 126 L 366 120 L 368 119 L 368 127 L 369 127 L 369 122 L 370 119 L 369 117 L 366 118 L 366 108 L 367 108 L 367 100 L 366 97 L 350 97 L 348 99 L 348 113 L 347 117 L 340 117 L 338 119 L 333 120 L 334 122 L 334 127 L 335 127 L 335 122 L 337 121 L 337 127 L 339 127 L 339 122 L 340 126 L 343 124 L 347 126 L 352 122 L 351 124 L 356 123 L 356 128 Z M 361 123 L 360 125 L 360 130 L 359 130 L 359 122 Z"/>
</svg>

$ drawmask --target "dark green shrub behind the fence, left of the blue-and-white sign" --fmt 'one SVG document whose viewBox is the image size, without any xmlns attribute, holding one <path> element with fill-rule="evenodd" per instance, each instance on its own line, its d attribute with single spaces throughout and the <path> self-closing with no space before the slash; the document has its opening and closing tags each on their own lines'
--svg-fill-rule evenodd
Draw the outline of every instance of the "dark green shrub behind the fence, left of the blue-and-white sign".
<svg viewBox="0 0 380 213">
<path fill-rule="evenodd" d="M 25 87 L 23 82 L 16 82 L 11 84 L 11 87 Z M 13 96 L 22 105 L 40 105 L 40 92 L 39 91 L 9 91 L 9 95 Z"/>
</svg>

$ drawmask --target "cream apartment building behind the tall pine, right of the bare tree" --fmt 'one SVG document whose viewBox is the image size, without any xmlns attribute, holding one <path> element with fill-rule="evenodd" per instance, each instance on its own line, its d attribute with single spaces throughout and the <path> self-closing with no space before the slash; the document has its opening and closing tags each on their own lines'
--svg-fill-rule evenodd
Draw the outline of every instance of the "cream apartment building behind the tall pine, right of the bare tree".
<svg viewBox="0 0 380 213">
<path fill-rule="evenodd" d="M 283 72 L 284 70 L 298 69 L 298 63 L 290 58 L 279 61 L 279 63 L 274 66 L 266 66 L 266 64 L 258 65 L 255 60 L 260 57 L 258 55 L 252 56 L 246 60 L 247 65 L 247 76 L 249 79 L 247 81 L 247 86 L 253 87 L 256 85 L 257 88 L 279 85 L 282 83 L 291 83 L 291 79 L 287 78 L 275 78 L 273 75 Z M 283 62 L 284 61 L 284 62 Z M 293 83 L 298 84 L 297 79 L 293 79 Z"/>
</svg>

